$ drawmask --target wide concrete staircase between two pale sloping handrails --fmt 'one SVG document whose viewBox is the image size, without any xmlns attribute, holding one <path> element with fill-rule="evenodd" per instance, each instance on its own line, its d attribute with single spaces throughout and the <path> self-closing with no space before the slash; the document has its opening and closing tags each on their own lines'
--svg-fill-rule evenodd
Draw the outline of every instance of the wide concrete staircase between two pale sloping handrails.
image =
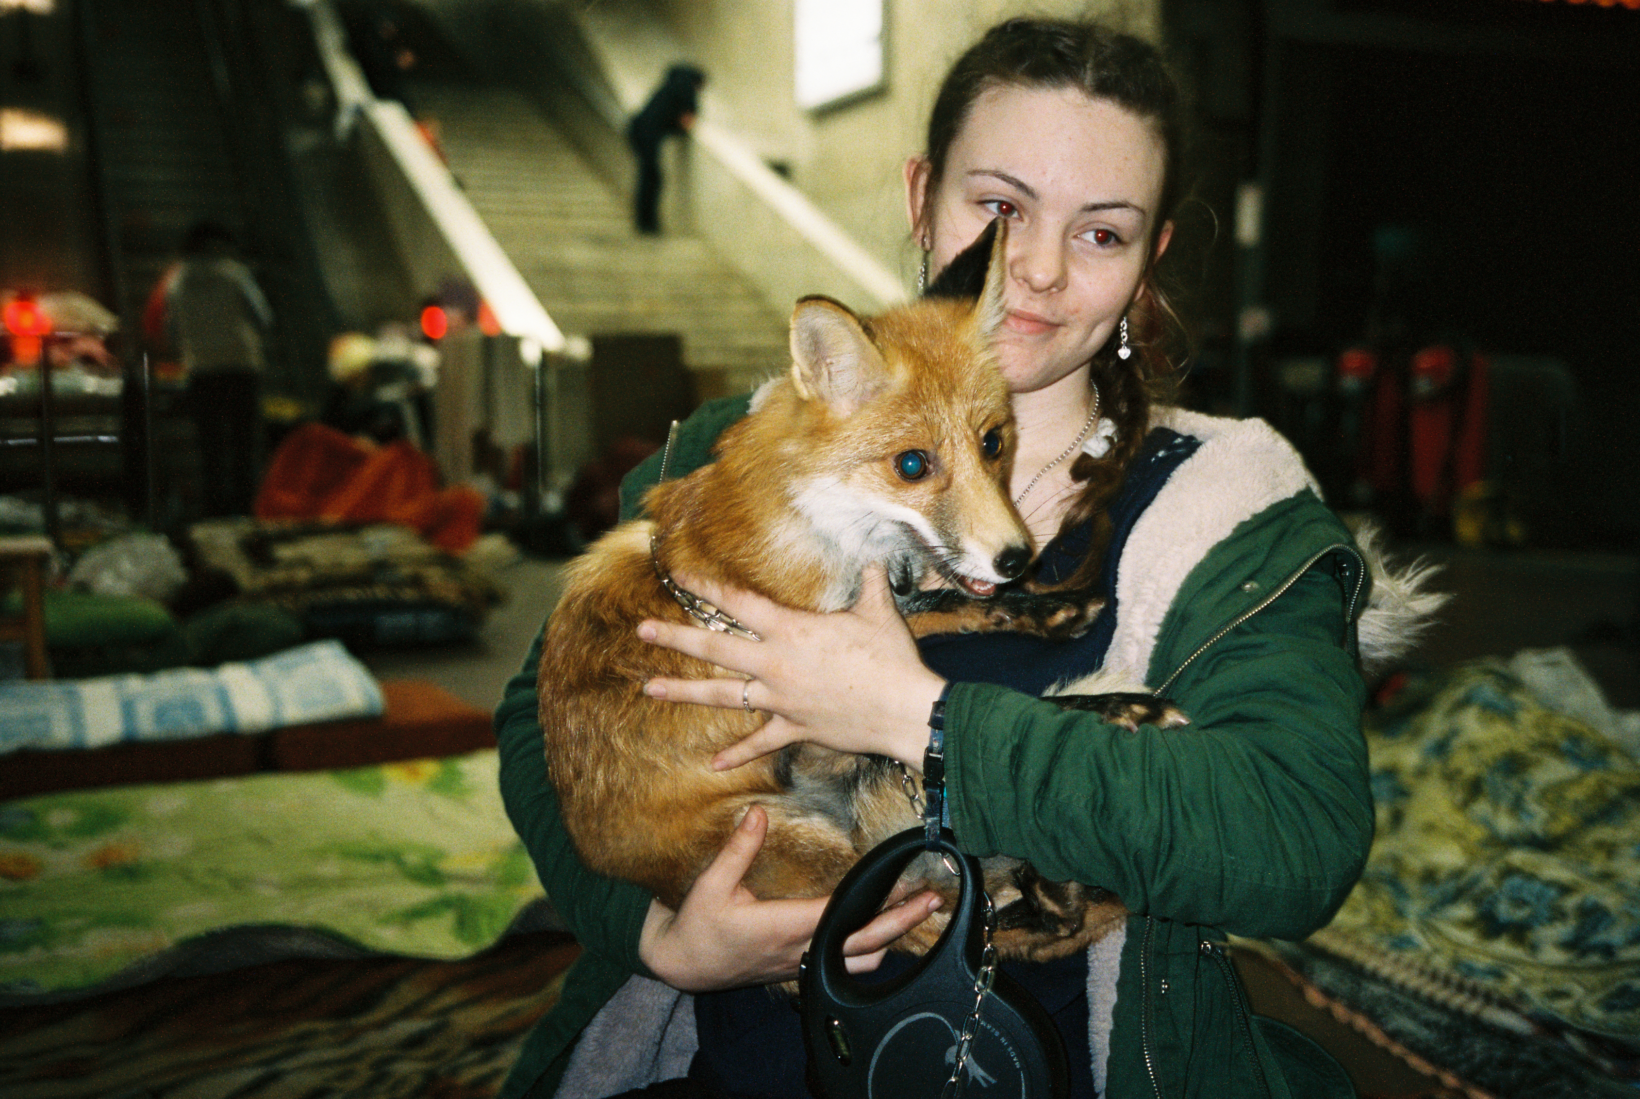
<svg viewBox="0 0 1640 1099">
<path fill-rule="evenodd" d="M 702 399 L 790 361 L 786 310 L 690 236 L 638 236 L 630 203 L 523 95 L 417 82 L 449 169 L 497 243 L 567 333 L 677 333 Z"/>
</svg>

